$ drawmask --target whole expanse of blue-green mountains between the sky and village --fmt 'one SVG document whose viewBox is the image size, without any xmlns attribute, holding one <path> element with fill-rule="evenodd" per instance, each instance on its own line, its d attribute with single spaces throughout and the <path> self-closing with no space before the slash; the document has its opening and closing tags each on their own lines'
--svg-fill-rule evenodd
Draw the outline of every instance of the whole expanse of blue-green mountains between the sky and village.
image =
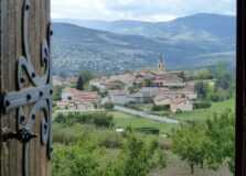
<svg viewBox="0 0 246 176">
<path fill-rule="evenodd" d="M 235 61 L 235 16 L 196 14 L 159 23 L 68 22 L 100 31 L 54 23 L 56 72 L 77 74 L 92 69 L 101 73 L 156 66 L 160 54 L 164 55 L 169 69 Z"/>
</svg>

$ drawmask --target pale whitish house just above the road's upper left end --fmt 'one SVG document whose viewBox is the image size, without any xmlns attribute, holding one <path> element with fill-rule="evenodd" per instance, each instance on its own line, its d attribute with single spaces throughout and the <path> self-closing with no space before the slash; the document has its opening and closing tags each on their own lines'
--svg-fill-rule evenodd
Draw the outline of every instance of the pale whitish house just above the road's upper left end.
<svg viewBox="0 0 246 176">
<path fill-rule="evenodd" d="M 108 90 L 108 101 L 125 105 L 130 101 L 128 90 Z"/>
</svg>

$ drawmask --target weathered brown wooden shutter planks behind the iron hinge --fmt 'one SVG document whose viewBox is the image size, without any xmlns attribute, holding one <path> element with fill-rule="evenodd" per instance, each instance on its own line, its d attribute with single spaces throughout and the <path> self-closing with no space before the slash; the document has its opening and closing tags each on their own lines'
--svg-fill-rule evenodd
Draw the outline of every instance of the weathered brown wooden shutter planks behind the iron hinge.
<svg viewBox="0 0 246 176">
<path fill-rule="evenodd" d="M 29 15 L 29 47 L 30 56 L 36 74 L 42 75 L 44 68 L 41 67 L 41 42 L 46 37 L 47 21 L 50 14 L 45 14 L 50 8 L 46 0 L 30 0 Z M 22 55 L 22 18 L 23 0 L 0 0 L 0 90 L 14 91 L 17 59 Z M 49 19 L 46 19 L 49 18 Z M 26 80 L 26 78 L 25 78 Z M 25 82 L 24 86 L 31 87 Z M 26 106 L 24 112 L 28 114 L 32 106 Z M 15 131 L 15 111 L 3 114 L 1 111 L 0 128 L 10 128 Z M 43 113 L 38 113 L 33 125 L 38 138 L 31 140 L 29 145 L 29 175 L 41 176 L 51 175 L 50 162 L 46 158 L 46 148 L 41 145 L 40 123 Z M 0 139 L 1 140 L 1 139 Z M 0 141 L 0 175 L 21 176 L 22 172 L 22 144 L 17 140 L 8 142 Z"/>
</svg>

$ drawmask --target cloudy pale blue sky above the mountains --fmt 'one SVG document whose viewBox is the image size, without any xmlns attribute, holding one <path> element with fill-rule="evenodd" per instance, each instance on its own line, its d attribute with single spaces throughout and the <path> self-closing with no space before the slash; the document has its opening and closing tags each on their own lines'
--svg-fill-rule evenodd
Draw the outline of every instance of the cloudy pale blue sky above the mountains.
<svg viewBox="0 0 246 176">
<path fill-rule="evenodd" d="M 53 19 L 169 21 L 194 13 L 236 13 L 236 0 L 52 0 Z"/>
</svg>

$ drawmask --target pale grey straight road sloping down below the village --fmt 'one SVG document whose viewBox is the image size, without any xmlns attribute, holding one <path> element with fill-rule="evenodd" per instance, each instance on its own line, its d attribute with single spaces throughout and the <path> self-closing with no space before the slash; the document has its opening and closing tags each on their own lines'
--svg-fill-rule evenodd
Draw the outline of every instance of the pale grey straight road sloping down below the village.
<svg viewBox="0 0 246 176">
<path fill-rule="evenodd" d="M 171 119 L 168 117 L 160 117 L 160 116 L 156 116 L 156 114 L 151 114 L 148 112 L 138 111 L 138 110 L 133 110 L 133 109 L 125 108 L 125 107 L 120 107 L 120 106 L 115 106 L 114 109 L 117 111 L 120 111 L 120 112 L 139 116 L 141 118 L 151 119 L 151 120 L 156 120 L 156 121 L 161 121 L 161 122 L 167 122 L 167 123 L 175 123 L 175 124 L 180 123 L 180 121 L 175 120 L 175 119 Z"/>
</svg>

